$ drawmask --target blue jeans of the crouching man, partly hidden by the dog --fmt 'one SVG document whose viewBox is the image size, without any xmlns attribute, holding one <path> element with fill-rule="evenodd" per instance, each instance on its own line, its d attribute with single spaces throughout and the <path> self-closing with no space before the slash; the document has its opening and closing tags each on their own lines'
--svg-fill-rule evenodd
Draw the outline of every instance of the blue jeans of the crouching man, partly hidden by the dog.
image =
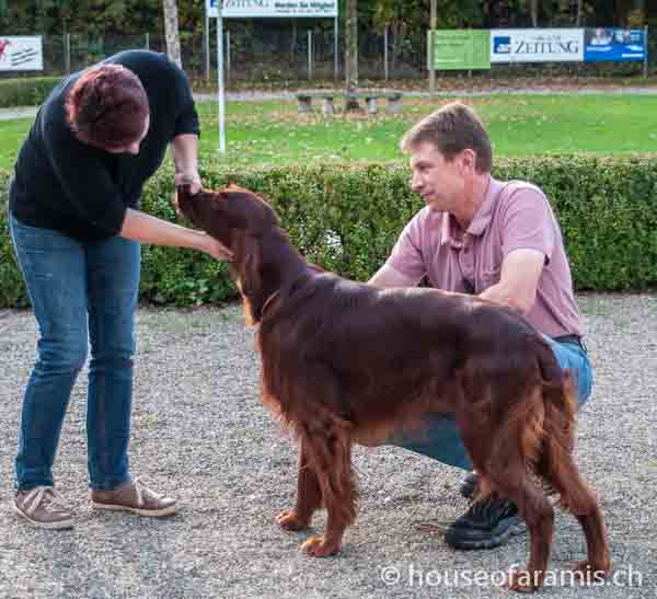
<svg viewBox="0 0 657 599">
<path fill-rule="evenodd" d="M 591 394 L 593 375 L 588 354 L 576 343 L 560 343 L 550 337 L 545 341 L 563 369 L 570 369 L 577 387 L 577 403 L 581 407 Z M 459 427 L 452 417 L 431 418 L 418 439 L 394 439 L 391 445 L 410 449 L 416 453 L 434 458 L 439 462 L 472 470 L 472 463 L 461 439 Z"/>
</svg>

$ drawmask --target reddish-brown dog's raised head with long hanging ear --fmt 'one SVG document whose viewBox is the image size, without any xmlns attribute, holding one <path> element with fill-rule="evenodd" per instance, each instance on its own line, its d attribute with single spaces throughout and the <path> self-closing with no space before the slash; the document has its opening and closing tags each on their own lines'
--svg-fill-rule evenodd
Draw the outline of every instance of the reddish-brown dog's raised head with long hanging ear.
<svg viewBox="0 0 657 599">
<path fill-rule="evenodd" d="M 235 185 L 194 195 L 188 185 L 182 185 L 176 192 L 178 210 L 232 252 L 232 267 L 246 300 L 247 320 L 258 322 L 269 291 L 263 279 L 263 240 L 278 231 L 276 212 L 263 198 Z"/>
</svg>

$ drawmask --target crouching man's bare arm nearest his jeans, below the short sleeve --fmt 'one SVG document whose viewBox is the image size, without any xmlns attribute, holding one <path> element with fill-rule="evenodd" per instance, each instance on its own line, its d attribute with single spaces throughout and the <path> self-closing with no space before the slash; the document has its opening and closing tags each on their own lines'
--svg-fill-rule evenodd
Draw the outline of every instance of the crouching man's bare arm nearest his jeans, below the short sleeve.
<svg viewBox="0 0 657 599">
<path fill-rule="evenodd" d="M 502 263 L 499 283 L 488 287 L 480 297 L 508 306 L 528 314 L 537 299 L 539 279 L 545 254 L 539 250 L 515 250 Z"/>
</svg>

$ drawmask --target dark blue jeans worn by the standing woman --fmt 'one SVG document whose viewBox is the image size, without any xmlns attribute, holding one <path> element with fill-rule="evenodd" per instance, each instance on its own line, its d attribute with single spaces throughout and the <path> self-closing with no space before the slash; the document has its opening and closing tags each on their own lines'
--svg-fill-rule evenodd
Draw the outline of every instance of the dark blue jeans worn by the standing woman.
<svg viewBox="0 0 657 599">
<path fill-rule="evenodd" d="M 120 237 L 79 242 L 11 215 L 10 230 L 39 332 L 23 398 L 15 486 L 53 485 L 61 425 L 90 345 L 89 479 L 95 491 L 113 489 L 130 477 L 139 243 Z"/>
</svg>

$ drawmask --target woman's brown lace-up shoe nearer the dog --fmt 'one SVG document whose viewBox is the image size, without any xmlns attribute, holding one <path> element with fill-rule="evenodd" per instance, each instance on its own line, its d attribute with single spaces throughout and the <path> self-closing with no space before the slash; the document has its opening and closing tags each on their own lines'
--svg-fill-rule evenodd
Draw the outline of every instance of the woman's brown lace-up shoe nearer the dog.
<svg viewBox="0 0 657 599">
<path fill-rule="evenodd" d="M 113 491 L 92 491 L 91 507 L 94 509 L 123 509 L 151 518 L 170 516 L 177 509 L 175 499 L 163 497 L 148 488 L 139 479 L 134 479 Z"/>
</svg>

